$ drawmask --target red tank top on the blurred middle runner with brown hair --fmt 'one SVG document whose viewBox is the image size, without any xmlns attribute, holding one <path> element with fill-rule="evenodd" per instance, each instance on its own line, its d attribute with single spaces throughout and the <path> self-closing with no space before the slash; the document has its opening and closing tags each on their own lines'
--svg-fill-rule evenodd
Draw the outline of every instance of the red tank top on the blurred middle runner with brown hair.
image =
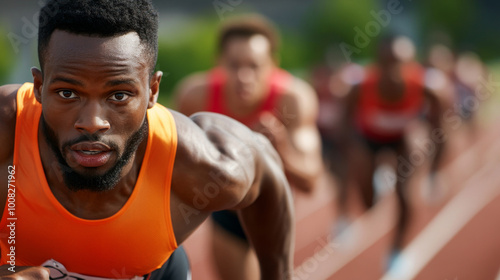
<svg viewBox="0 0 500 280">
<path fill-rule="evenodd" d="M 276 68 L 269 77 L 269 92 L 257 110 L 244 117 L 236 117 L 227 108 L 224 99 L 226 74 L 221 68 L 215 68 L 209 73 L 209 96 L 207 111 L 229 116 L 242 124 L 251 127 L 264 112 L 275 114 L 280 95 L 288 86 L 291 75 L 285 70 Z"/>
</svg>

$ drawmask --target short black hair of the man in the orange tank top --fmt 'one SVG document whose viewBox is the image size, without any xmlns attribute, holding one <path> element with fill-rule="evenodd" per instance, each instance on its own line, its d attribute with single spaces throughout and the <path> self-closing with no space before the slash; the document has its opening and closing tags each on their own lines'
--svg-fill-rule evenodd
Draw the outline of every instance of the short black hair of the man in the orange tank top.
<svg viewBox="0 0 500 280">
<path fill-rule="evenodd" d="M 49 0 L 40 10 L 38 58 L 43 62 L 56 30 L 78 35 L 113 37 L 136 32 L 151 59 L 158 56 L 158 12 L 150 0 Z"/>
</svg>

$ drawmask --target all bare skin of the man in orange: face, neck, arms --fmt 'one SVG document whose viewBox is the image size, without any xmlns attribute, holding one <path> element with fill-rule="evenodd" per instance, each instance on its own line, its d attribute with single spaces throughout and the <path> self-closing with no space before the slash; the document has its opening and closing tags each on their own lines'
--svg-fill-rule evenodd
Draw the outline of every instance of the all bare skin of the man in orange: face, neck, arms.
<svg viewBox="0 0 500 280">
<path fill-rule="evenodd" d="M 151 74 L 143 45 L 133 32 L 98 38 L 56 30 L 45 57 L 43 74 L 32 69 L 34 93 L 42 104 L 43 119 L 55 133 L 55 145 L 74 171 L 101 175 L 123 155 L 127 140 L 155 105 L 162 73 Z M 0 87 L 1 182 L 7 181 L 7 167 L 13 162 L 19 87 Z M 185 241 L 212 211 L 234 209 L 255 246 L 262 279 L 286 279 L 292 269 L 293 211 L 281 161 L 270 142 L 220 115 L 201 113 L 188 118 L 171 112 L 178 134 L 170 204 L 177 243 Z M 40 125 L 38 132 L 43 133 Z M 99 141 L 112 145 L 63 145 L 82 135 L 99 136 Z M 45 175 L 54 196 L 70 213 L 83 219 L 103 219 L 122 208 L 137 181 L 147 137 L 107 192 L 69 190 L 60 180 L 61 169 L 52 168 L 57 159 L 46 141 L 39 137 Z M 218 196 L 197 208 L 195 194 L 213 181 L 210 174 L 214 172 L 225 185 Z M 0 204 L 4 205 L 6 196 L 7 188 L 1 188 Z M 180 211 L 181 204 L 195 211 L 189 221 Z M 49 279 L 45 271 L 30 268 L 11 277 Z M 9 273 L 2 266 L 0 276 Z"/>
</svg>

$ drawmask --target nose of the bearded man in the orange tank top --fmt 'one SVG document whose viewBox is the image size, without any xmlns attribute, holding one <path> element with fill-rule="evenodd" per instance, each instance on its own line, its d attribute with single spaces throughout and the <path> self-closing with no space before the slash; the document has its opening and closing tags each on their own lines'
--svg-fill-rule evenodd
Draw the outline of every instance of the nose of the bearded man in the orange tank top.
<svg viewBox="0 0 500 280">
<path fill-rule="evenodd" d="M 110 129 L 104 109 L 97 102 L 85 104 L 80 111 L 80 116 L 75 123 L 75 128 L 80 132 L 94 134 L 104 133 Z"/>
</svg>

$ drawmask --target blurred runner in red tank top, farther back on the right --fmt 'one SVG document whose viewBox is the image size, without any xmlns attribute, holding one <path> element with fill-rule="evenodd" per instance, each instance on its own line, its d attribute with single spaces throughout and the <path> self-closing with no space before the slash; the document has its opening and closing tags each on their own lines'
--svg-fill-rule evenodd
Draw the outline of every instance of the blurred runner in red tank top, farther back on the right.
<svg viewBox="0 0 500 280">
<path fill-rule="evenodd" d="M 401 41 L 406 40 L 406 41 Z M 399 220 L 394 249 L 403 245 L 404 232 L 409 219 L 409 207 L 406 201 L 406 183 L 415 168 L 422 165 L 414 162 L 410 155 L 424 153 L 422 158 L 433 158 L 432 170 L 437 168 L 441 154 L 442 137 L 439 134 L 441 112 L 437 97 L 424 85 L 423 68 L 413 61 L 411 53 L 406 54 L 411 45 L 403 37 L 384 38 L 378 49 L 376 64 L 366 68 L 364 80 L 355 86 L 348 97 L 348 108 L 344 121 L 345 156 L 348 160 L 347 170 L 343 172 L 343 187 L 340 197 L 341 212 L 345 213 L 347 182 L 353 181 L 360 188 L 362 202 L 370 208 L 374 204 L 375 183 L 379 186 L 395 184 L 399 204 Z M 401 48 L 401 46 L 405 46 Z M 406 57 L 405 57 L 406 56 Z M 414 143 L 407 143 L 409 129 L 427 117 L 432 130 L 432 141 L 426 141 L 429 150 L 416 151 Z M 419 147 L 422 149 L 422 147 Z M 374 176 L 382 151 L 395 153 L 397 156 L 385 154 L 386 167 L 392 165 L 394 176 Z M 395 178 L 393 178 L 395 177 Z M 350 180 L 348 180 L 350 178 Z M 382 182 L 379 179 L 382 178 Z M 389 178 L 389 179 L 388 179 Z M 393 180 L 394 179 L 394 180 Z M 395 182 L 394 182 L 395 181 Z M 391 186 L 393 187 L 393 186 Z"/>
</svg>

